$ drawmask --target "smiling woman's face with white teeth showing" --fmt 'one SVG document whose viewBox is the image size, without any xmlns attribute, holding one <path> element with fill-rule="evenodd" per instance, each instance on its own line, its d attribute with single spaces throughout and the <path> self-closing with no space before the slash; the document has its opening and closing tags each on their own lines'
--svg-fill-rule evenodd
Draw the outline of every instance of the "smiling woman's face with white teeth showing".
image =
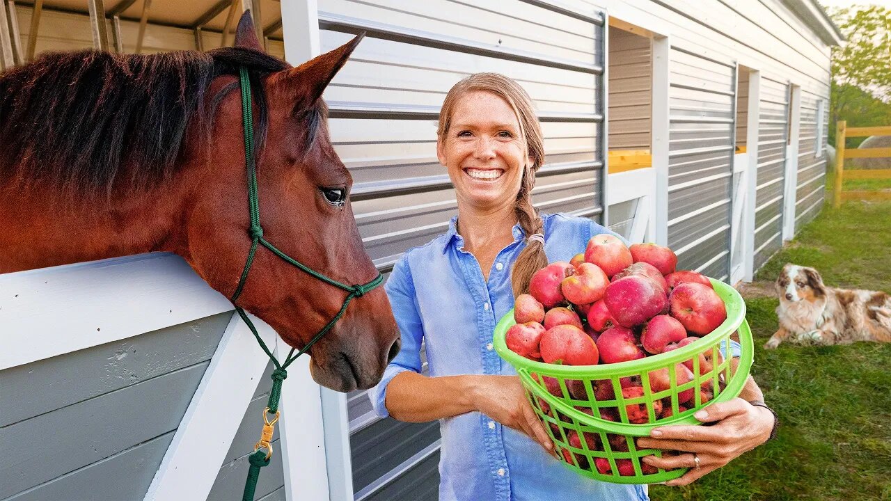
<svg viewBox="0 0 891 501">
<path fill-rule="evenodd" d="M 511 105 L 497 94 L 472 91 L 454 104 L 452 123 L 437 141 L 458 203 L 478 209 L 513 204 L 528 163 L 526 139 Z"/>
</svg>

